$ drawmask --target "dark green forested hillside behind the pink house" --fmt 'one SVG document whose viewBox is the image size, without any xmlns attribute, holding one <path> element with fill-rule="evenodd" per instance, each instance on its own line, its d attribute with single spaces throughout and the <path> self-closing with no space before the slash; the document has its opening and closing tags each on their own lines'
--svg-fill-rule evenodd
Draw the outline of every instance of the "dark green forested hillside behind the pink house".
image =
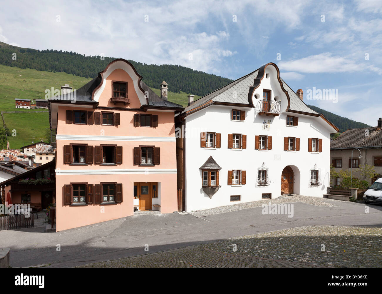
<svg viewBox="0 0 382 294">
<path fill-rule="evenodd" d="M 16 60 L 12 54 L 16 53 Z M 118 58 L 118 57 L 116 57 Z M 94 78 L 114 60 L 114 57 L 85 56 L 76 52 L 57 50 L 35 50 L 20 48 L 0 42 L 0 64 L 42 71 L 66 72 L 84 78 Z M 204 96 L 230 83 L 221 76 L 196 71 L 180 65 L 155 65 L 129 60 L 143 81 L 152 88 L 159 88 L 162 81 L 175 93 L 185 92 Z"/>
</svg>

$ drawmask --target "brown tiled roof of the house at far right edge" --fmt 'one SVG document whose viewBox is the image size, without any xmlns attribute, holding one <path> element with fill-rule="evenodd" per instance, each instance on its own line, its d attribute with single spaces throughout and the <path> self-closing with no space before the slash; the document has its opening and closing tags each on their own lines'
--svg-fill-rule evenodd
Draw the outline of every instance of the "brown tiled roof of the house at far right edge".
<svg viewBox="0 0 382 294">
<path fill-rule="evenodd" d="M 365 130 L 369 130 L 369 136 L 366 136 Z M 330 142 L 330 149 L 367 147 L 382 148 L 382 130 L 378 130 L 377 127 L 350 128 Z"/>
</svg>

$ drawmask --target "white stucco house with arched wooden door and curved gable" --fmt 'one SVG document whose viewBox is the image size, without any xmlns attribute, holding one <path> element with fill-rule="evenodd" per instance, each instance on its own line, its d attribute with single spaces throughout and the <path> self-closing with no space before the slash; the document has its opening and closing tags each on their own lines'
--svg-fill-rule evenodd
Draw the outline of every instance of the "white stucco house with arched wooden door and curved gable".
<svg viewBox="0 0 382 294">
<path fill-rule="evenodd" d="M 277 198 L 322 197 L 330 185 L 330 134 L 338 128 L 303 102 L 267 63 L 193 101 L 176 117 L 178 189 L 196 211 Z"/>
</svg>

